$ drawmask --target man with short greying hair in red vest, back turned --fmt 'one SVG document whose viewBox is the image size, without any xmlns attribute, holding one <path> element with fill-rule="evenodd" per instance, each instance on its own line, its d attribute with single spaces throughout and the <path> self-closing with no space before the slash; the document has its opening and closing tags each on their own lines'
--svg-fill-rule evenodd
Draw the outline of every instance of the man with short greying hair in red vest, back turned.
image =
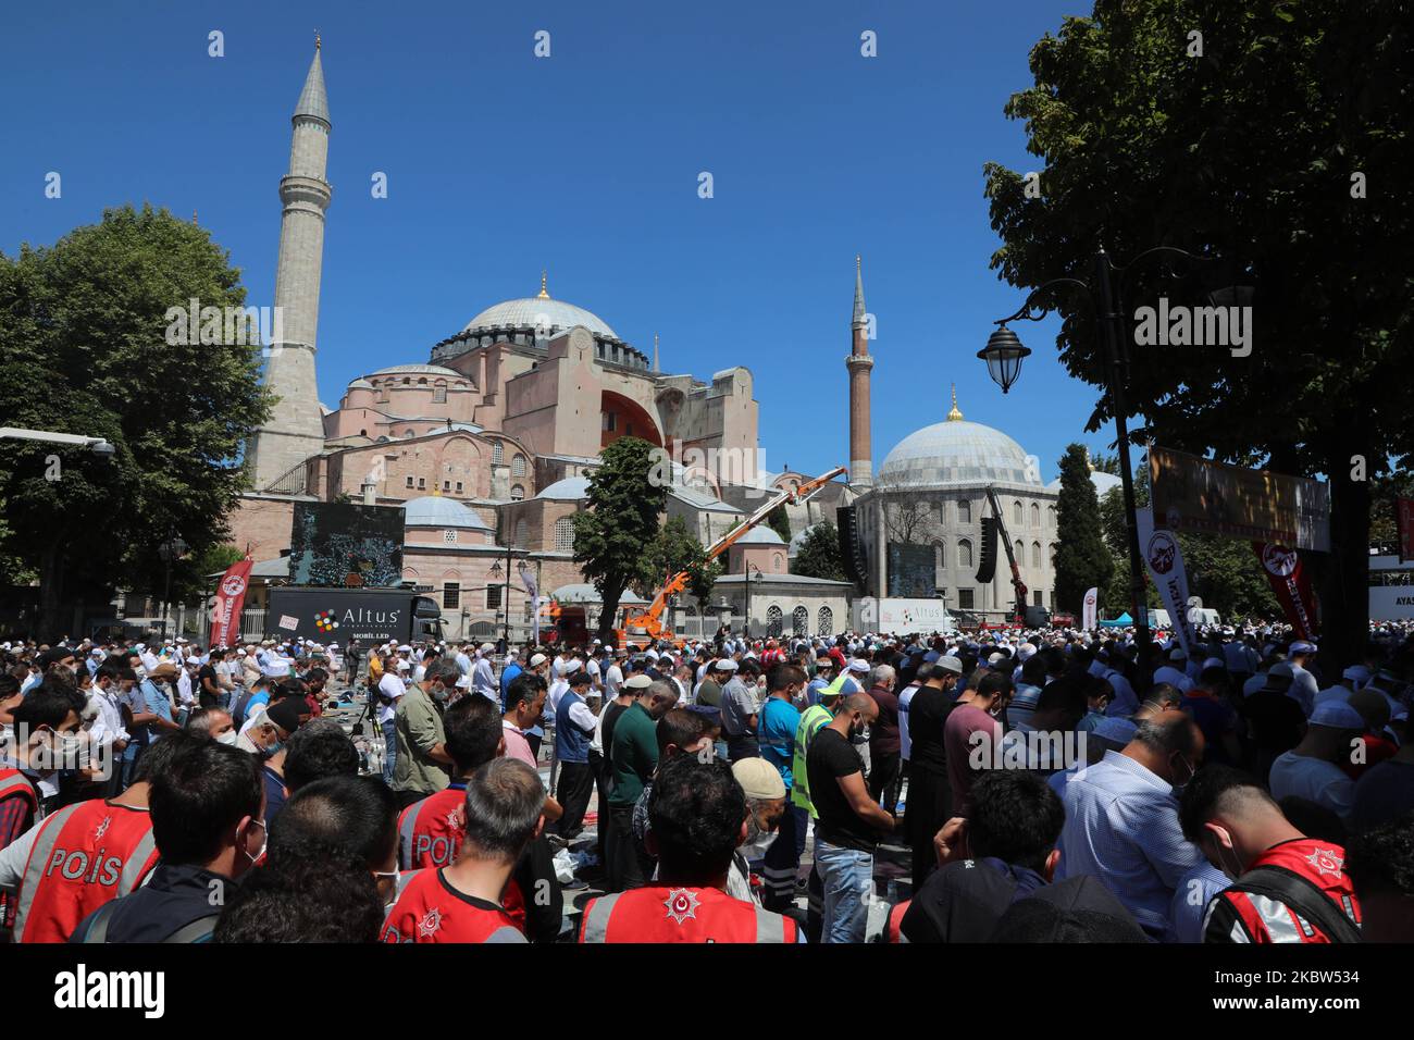
<svg viewBox="0 0 1414 1040">
<path fill-rule="evenodd" d="M 486 698 L 468 699 L 496 710 Z M 499 726 L 499 716 L 493 717 Z M 387 911 L 383 942 L 526 941 L 502 893 L 520 853 L 544 826 L 540 777 L 519 758 L 492 758 L 468 778 L 462 811 L 461 856 L 451 866 L 404 876 Z"/>
</svg>

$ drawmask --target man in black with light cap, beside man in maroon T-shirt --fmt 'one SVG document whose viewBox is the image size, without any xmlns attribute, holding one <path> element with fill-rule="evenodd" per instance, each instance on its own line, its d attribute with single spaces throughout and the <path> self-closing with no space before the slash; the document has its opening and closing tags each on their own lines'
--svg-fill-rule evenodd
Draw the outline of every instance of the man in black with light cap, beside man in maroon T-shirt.
<svg viewBox="0 0 1414 1040">
<path fill-rule="evenodd" d="M 925 671 L 926 669 L 926 671 Z M 947 751 L 943 723 L 953 710 L 953 696 L 963 664 L 954 657 L 918 669 L 923 685 L 908 703 L 908 736 L 912 749 L 908 764 L 908 811 L 904 831 L 913 849 L 913 891 L 921 891 L 937 869 L 933 835 L 952 819 L 953 788 L 947 782 Z"/>
</svg>

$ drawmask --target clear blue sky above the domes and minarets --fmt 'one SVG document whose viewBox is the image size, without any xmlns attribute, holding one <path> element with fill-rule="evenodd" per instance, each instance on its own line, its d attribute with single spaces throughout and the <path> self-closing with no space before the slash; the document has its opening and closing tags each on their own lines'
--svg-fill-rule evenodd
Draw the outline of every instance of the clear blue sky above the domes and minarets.
<svg viewBox="0 0 1414 1040">
<path fill-rule="evenodd" d="M 489 304 L 550 293 L 663 368 L 751 368 L 766 464 L 848 461 L 854 255 L 874 460 L 962 410 L 1056 475 L 1096 389 L 1052 318 L 1003 398 L 976 352 L 1021 294 L 987 260 L 981 167 L 1036 168 L 1003 105 L 1080 0 L 76 3 L 0 14 L 0 249 L 150 201 L 199 221 L 271 303 L 290 113 L 324 38 L 334 132 L 320 392 L 426 361 Z M 225 57 L 208 57 L 208 33 Z M 533 55 L 550 33 L 551 57 Z M 872 30 L 878 57 L 860 54 Z M 44 197 L 48 171 L 59 200 Z M 389 197 L 370 195 L 383 171 Z M 697 195 L 710 171 L 714 198 Z"/>
</svg>

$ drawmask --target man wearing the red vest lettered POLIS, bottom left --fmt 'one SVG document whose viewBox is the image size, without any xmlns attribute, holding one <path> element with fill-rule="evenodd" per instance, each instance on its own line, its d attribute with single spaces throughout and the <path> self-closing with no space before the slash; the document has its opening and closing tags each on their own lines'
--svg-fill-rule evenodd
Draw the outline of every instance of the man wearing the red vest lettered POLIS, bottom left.
<svg viewBox="0 0 1414 1040">
<path fill-rule="evenodd" d="M 0 887 L 20 886 L 14 938 L 65 942 L 109 900 L 126 896 L 157 866 L 147 797 L 173 754 L 197 740 L 173 733 L 147 749 L 132 787 L 116 798 L 65 805 L 0 852 Z"/>
</svg>

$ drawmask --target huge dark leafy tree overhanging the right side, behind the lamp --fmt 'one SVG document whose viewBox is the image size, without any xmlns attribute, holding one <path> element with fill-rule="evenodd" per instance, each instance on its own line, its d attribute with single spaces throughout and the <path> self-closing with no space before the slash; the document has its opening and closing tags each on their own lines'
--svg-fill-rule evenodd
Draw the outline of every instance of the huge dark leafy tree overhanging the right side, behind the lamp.
<svg viewBox="0 0 1414 1040">
<path fill-rule="evenodd" d="M 1404 1 L 1099 0 L 1032 48 L 1035 85 L 1005 106 L 1041 160 L 1041 197 L 986 166 L 1004 242 L 993 266 L 1014 286 L 1087 277 L 1103 243 L 1120 263 L 1155 245 L 1222 258 L 1182 280 L 1135 269 L 1126 321 L 1159 296 L 1254 289 L 1247 357 L 1127 348 L 1134 440 L 1331 480 L 1333 552 L 1312 563 L 1336 662 L 1367 638 L 1370 484 L 1352 478 L 1353 460 L 1377 475 L 1414 451 L 1414 207 L 1374 188 L 1414 167 L 1408 27 Z M 1053 303 L 1062 364 L 1103 389 L 1090 301 Z M 1111 413 L 1102 393 L 1087 429 Z"/>
</svg>

